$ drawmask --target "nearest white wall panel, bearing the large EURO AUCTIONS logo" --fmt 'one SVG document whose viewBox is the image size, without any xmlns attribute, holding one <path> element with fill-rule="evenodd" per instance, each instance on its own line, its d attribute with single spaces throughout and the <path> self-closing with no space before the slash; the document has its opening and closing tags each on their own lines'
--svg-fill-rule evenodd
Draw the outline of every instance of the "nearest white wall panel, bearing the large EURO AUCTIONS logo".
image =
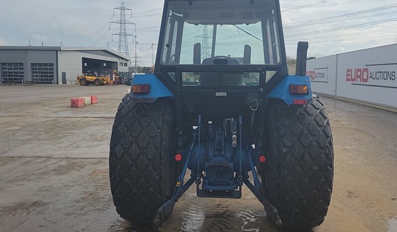
<svg viewBox="0 0 397 232">
<path fill-rule="evenodd" d="M 338 55 L 337 95 L 397 107 L 397 45 Z"/>
</svg>

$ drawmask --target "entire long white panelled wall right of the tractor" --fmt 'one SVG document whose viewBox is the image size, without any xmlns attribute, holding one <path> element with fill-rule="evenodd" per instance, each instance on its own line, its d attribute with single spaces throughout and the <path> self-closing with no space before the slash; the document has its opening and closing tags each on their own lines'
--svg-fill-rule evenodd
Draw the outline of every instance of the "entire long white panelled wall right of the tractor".
<svg viewBox="0 0 397 232">
<path fill-rule="evenodd" d="M 307 70 L 328 70 L 327 83 L 311 78 L 314 92 L 397 108 L 397 44 L 308 60 Z"/>
</svg>

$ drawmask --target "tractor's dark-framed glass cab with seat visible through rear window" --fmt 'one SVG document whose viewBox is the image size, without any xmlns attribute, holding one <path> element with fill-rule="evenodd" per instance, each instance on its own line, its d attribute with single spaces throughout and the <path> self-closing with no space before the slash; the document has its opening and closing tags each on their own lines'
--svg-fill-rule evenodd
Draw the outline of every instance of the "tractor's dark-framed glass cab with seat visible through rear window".
<svg viewBox="0 0 397 232">
<path fill-rule="evenodd" d="M 276 0 L 166 0 L 155 74 L 175 93 L 265 88 L 288 74 Z M 231 90 L 232 91 L 232 90 Z"/>
</svg>

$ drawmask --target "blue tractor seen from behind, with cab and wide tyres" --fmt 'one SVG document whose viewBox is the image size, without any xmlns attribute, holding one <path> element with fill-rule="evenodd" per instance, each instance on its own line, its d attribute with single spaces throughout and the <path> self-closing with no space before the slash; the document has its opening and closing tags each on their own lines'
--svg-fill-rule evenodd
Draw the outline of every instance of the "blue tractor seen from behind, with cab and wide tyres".
<svg viewBox="0 0 397 232">
<path fill-rule="evenodd" d="M 332 134 L 305 76 L 307 43 L 288 74 L 279 0 L 165 0 L 158 44 L 154 73 L 134 77 L 114 119 L 118 214 L 159 226 L 192 185 L 235 199 L 246 185 L 278 228 L 319 226 Z"/>
</svg>

